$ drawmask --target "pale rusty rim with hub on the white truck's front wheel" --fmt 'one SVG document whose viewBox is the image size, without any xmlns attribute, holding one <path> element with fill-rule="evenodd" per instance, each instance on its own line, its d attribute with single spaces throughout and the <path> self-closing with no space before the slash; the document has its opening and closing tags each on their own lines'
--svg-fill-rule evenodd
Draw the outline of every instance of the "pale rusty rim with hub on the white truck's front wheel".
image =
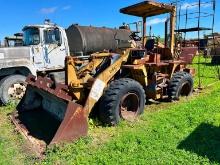
<svg viewBox="0 0 220 165">
<path fill-rule="evenodd" d="M 25 94 L 26 86 L 24 83 L 12 84 L 8 89 L 8 96 L 10 101 L 20 100 Z"/>
</svg>

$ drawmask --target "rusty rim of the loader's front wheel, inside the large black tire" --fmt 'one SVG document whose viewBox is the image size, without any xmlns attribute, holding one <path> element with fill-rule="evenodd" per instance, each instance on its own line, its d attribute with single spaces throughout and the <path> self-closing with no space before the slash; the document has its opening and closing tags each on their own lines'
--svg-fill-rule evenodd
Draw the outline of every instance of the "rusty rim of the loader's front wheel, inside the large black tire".
<svg viewBox="0 0 220 165">
<path fill-rule="evenodd" d="M 133 121 L 137 112 L 140 108 L 140 100 L 137 94 L 135 93 L 127 93 L 121 99 L 120 103 L 120 113 L 121 117 L 128 121 Z"/>
</svg>

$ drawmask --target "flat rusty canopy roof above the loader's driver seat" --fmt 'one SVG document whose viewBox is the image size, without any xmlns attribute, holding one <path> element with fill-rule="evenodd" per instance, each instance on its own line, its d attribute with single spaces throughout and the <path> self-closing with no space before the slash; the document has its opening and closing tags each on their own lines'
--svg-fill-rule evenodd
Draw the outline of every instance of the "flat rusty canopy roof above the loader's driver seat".
<svg viewBox="0 0 220 165">
<path fill-rule="evenodd" d="M 170 13 L 174 9 L 175 6 L 172 5 L 152 1 L 143 1 L 141 3 L 122 8 L 120 12 L 138 17 L 152 17 L 155 15 Z"/>
</svg>

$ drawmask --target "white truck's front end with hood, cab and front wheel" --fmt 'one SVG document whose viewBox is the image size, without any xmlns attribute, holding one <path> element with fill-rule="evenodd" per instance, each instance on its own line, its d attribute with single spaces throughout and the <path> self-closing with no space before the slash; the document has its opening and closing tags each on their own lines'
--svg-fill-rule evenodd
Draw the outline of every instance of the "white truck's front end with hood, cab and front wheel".
<svg viewBox="0 0 220 165">
<path fill-rule="evenodd" d="M 23 97 L 28 74 L 64 68 L 69 46 L 65 29 L 50 22 L 23 28 L 23 46 L 0 48 L 0 103 Z"/>
</svg>

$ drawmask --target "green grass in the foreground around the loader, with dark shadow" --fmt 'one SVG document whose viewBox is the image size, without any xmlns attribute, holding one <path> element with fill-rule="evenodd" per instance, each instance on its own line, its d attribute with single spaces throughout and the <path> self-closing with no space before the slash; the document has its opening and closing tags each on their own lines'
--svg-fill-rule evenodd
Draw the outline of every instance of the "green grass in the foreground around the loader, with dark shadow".
<svg viewBox="0 0 220 165">
<path fill-rule="evenodd" d="M 220 164 L 219 100 L 217 82 L 180 102 L 148 105 L 134 123 L 90 120 L 87 138 L 48 149 L 44 160 L 29 155 L 14 132 L 7 116 L 14 107 L 0 108 L 0 164 Z"/>
</svg>

